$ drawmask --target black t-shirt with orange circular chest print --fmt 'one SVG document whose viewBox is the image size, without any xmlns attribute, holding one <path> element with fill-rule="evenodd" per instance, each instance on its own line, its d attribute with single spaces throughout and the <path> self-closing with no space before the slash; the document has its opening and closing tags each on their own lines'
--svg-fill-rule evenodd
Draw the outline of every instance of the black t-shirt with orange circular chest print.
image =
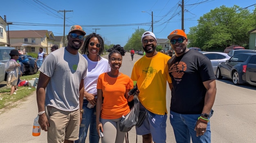
<svg viewBox="0 0 256 143">
<path fill-rule="evenodd" d="M 204 81 L 216 79 L 211 61 L 198 51 L 189 50 L 168 61 L 172 79 L 171 111 L 179 114 L 201 114 L 206 88 Z"/>
</svg>

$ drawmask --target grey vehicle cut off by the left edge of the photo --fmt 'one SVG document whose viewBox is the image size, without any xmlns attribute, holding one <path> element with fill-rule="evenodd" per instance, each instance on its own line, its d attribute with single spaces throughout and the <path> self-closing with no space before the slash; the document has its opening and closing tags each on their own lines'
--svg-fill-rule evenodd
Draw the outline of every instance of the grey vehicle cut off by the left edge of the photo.
<svg viewBox="0 0 256 143">
<path fill-rule="evenodd" d="M 13 47 L 0 46 L 0 82 L 6 81 L 7 73 L 5 72 L 5 64 L 11 59 L 9 53 Z"/>
</svg>

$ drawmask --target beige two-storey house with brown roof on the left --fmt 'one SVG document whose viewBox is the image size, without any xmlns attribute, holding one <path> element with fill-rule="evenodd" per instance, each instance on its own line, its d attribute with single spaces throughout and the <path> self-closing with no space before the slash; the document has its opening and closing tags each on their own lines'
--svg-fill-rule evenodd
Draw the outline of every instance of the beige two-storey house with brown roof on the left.
<svg viewBox="0 0 256 143">
<path fill-rule="evenodd" d="M 7 35 L 8 37 L 8 35 Z M 20 53 L 38 53 L 42 47 L 46 54 L 51 52 L 55 37 L 52 31 L 47 30 L 20 30 L 9 31 L 10 46 Z"/>
</svg>

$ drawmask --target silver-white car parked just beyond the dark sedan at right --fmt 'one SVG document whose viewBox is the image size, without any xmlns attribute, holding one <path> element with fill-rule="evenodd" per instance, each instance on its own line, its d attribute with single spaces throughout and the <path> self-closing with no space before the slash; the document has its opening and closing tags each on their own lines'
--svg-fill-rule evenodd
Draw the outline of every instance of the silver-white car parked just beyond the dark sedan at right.
<svg viewBox="0 0 256 143">
<path fill-rule="evenodd" d="M 215 75 L 217 72 L 218 65 L 221 62 L 226 62 L 231 57 L 229 54 L 222 53 L 222 52 L 201 52 L 201 53 L 211 60 L 211 65 L 213 67 L 213 71 Z"/>
</svg>

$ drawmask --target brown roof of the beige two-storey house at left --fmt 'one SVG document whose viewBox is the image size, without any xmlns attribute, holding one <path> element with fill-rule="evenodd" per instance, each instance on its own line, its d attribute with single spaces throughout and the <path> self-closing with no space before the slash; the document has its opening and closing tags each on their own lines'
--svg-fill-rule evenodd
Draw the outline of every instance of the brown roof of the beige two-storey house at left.
<svg viewBox="0 0 256 143">
<path fill-rule="evenodd" d="M 9 32 L 10 38 L 44 38 L 45 35 L 49 35 L 47 30 L 19 30 Z"/>
</svg>

